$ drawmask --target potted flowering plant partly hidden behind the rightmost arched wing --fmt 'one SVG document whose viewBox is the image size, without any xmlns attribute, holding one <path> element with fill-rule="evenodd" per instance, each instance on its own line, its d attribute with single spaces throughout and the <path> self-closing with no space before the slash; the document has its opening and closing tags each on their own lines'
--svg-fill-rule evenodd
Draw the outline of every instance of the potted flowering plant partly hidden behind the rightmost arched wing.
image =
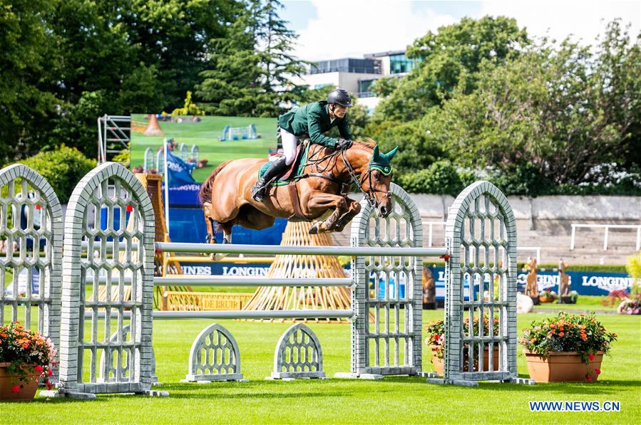
<svg viewBox="0 0 641 425">
<path fill-rule="evenodd" d="M 463 334 L 468 335 L 469 330 L 469 318 L 463 320 Z M 490 320 L 488 318 L 483 318 L 483 335 L 489 335 L 490 331 Z M 428 323 L 425 327 L 427 332 L 427 337 L 425 338 L 425 344 L 430 347 L 431 352 L 431 361 L 434 364 L 434 371 L 438 374 L 443 374 L 443 358 L 445 357 L 445 325 L 443 320 L 433 320 Z M 474 335 L 479 335 L 479 320 L 474 318 Z M 498 318 L 493 319 L 493 335 L 498 335 Z M 475 345 L 476 349 L 476 345 Z M 463 345 L 463 372 L 471 372 L 468 368 L 468 355 L 469 347 L 467 344 Z M 486 345 L 485 350 L 483 350 L 483 371 L 489 370 L 489 350 Z M 476 353 L 474 355 L 475 362 L 473 365 L 473 370 L 478 371 L 478 362 L 476 360 Z M 494 345 L 493 352 L 493 369 L 498 370 L 498 344 Z"/>
</svg>

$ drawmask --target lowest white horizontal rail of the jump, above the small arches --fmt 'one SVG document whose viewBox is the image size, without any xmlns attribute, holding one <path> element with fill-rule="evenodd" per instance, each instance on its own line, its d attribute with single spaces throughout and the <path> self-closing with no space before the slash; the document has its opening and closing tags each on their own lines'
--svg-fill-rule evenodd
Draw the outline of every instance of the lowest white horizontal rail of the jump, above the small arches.
<svg viewBox="0 0 641 425">
<path fill-rule="evenodd" d="M 118 311 L 111 309 L 111 318 L 118 318 Z M 130 318 L 130 311 L 123 311 L 123 318 Z M 92 318 L 93 311 L 85 310 L 85 318 Z M 98 312 L 104 318 L 105 311 Z M 222 311 L 154 311 L 154 319 L 332 319 L 353 318 L 352 310 L 222 310 Z"/>
</svg>

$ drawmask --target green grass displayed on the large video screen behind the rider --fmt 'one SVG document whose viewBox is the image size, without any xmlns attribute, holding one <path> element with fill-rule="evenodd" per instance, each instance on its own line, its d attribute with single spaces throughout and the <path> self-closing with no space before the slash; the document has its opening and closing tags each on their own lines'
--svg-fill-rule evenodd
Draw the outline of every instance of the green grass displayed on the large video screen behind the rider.
<svg viewBox="0 0 641 425">
<path fill-rule="evenodd" d="M 132 115 L 132 120 L 143 121 L 143 115 Z M 220 142 L 225 125 L 232 127 L 245 127 L 256 125 L 260 139 L 235 140 Z M 173 137 L 178 146 L 185 143 L 191 149 L 192 145 L 200 148 L 200 159 L 208 159 L 207 167 L 195 169 L 193 177 L 198 182 L 204 181 L 207 176 L 223 161 L 240 158 L 267 158 L 267 149 L 276 146 L 276 118 L 250 118 L 250 117 L 202 117 L 201 122 L 160 122 L 160 128 L 165 132 L 164 137 Z M 163 146 L 163 137 L 145 136 L 141 133 L 132 133 L 131 142 L 131 167 L 143 165 L 145 149 L 150 147 L 155 150 Z"/>
</svg>

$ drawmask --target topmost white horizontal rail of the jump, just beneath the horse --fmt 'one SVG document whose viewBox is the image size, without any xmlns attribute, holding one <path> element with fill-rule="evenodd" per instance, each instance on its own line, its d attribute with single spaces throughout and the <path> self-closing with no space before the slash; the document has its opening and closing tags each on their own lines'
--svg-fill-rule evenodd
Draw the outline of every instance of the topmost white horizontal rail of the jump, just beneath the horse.
<svg viewBox="0 0 641 425">
<path fill-rule="evenodd" d="M 299 256 L 405 256 L 439 257 L 447 253 L 443 248 L 403 248 L 381 246 L 289 246 L 242 245 L 219 243 L 156 242 L 155 248 L 167 252 L 200 252 L 227 254 L 284 254 Z"/>
</svg>

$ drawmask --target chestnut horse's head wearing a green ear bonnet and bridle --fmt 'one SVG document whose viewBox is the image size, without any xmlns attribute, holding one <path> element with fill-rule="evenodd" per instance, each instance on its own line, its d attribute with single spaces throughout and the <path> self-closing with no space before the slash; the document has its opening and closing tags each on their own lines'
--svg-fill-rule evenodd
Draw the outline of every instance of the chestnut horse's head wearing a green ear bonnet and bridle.
<svg viewBox="0 0 641 425">
<path fill-rule="evenodd" d="M 371 159 L 366 170 L 366 178 L 361 179 L 362 189 L 369 196 L 370 204 L 376 207 L 376 213 L 379 217 L 389 216 L 391 213 L 391 158 L 394 157 L 399 147 L 391 149 L 386 154 L 379 151 L 378 145 L 374 146 L 371 153 Z"/>
</svg>

